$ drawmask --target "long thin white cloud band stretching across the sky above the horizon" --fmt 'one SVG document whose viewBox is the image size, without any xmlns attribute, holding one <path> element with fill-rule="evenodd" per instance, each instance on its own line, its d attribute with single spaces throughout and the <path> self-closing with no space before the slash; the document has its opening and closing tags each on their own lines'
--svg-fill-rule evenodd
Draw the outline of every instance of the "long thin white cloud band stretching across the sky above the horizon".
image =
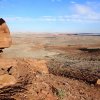
<svg viewBox="0 0 100 100">
<path fill-rule="evenodd" d="M 48 22 L 48 23 L 67 23 L 67 22 L 77 22 L 77 23 L 86 23 L 86 22 L 96 22 L 100 23 L 100 15 L 95 16 L 81 16 L 78 14 L 73 15 L 64 15 L 64 16 L 40 16 L 36 18 L 32 17 L 6 17 L 7 22 L 17 22 L 17 23 L 34 23 L 34 22 Z"/>
</svg>

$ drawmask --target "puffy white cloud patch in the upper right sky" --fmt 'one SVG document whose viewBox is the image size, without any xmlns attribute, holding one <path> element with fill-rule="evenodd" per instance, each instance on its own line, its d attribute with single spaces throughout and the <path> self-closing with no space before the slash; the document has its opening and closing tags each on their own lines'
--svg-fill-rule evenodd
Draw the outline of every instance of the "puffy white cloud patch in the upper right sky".
<svg viewBox="0 0 100 100">
<path fill-rule="evenodd" d="M 79 4 L 71 2 L 72 19 L 76 21 L 80 20 L 81 22 L 100 22 L 99 6 L 96 6 L 96 4 L 99 5 L 100 3 L 86 2 L 84 4 Z M 77 18 L 73 15 L 77 15 Z"/>
</svg>

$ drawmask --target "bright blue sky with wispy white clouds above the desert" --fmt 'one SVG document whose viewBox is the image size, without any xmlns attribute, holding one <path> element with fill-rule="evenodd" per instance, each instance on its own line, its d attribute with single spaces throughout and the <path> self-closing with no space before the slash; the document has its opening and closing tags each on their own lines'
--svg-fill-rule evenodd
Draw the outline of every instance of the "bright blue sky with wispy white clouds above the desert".
<svg viewBox="0 0 100 100">
<path fill-rule="evenodd" d="M 11 32 L 100 33 L 100 0 L 0 0 Z"/>
</svg>

